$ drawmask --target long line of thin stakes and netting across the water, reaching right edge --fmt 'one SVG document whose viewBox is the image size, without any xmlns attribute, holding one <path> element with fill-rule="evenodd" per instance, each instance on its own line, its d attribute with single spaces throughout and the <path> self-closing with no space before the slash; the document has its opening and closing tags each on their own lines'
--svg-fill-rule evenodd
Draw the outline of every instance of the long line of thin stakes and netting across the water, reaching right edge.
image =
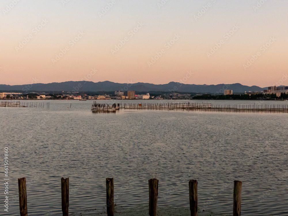
<svg viewBox="0 0 288 216">
<path fill-rule="evenodd" d="M 243 113 L 288 113 L 288 105 L 212 105 L 211 103 L 96 103 L 94 101 L 91 111 L 116 112 L 120 109 L 139 110 L 187 110 L 187 111 L 223 111 L 223 112 L 243 112 Z"/>
</svg>

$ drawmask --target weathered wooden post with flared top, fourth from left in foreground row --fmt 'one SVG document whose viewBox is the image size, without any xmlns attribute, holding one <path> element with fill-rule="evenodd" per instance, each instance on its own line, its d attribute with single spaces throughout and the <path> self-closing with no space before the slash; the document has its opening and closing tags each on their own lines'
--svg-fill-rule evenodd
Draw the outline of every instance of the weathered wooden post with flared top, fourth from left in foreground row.
<svg viewBox="0 0 288 216">
<path fill-rule="evenodd" d="M 158 179 L 149 179 L 149 215 L 157 216 Z"/>
</svg>

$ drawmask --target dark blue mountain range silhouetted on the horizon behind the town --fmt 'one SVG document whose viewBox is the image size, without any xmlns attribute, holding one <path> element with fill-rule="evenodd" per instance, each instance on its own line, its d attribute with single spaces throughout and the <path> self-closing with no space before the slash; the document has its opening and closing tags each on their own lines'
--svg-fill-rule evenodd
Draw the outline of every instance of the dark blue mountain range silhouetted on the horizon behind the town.
<svg viewBox="0 0 288 216">
<path fill-rule="evenodd" d="M 194 85 L 194 84 L 181 84 L 178 82 L 169 82 L 168 84 L 150 84 L 150 83 L 114 83 L 114 82 L 88 82 L 88 81 L 69 81 L 60 83 L 37 83 L 27 85 L 0 85 L 0 91 L 20 91 L 23 93 L 29 92 L 48 92 L 48 91 L 65 91 L 65 92 L 111 92 L 111 91 L 136 91 L 149 92 L 149 91 L 164 91 L 164 92 L 196 92 L 196 93 L 223 93 L 223 90 L 233 90 L 233 93 L 249 92 L 249 91 L 263 91 L 266 88 L 259 86 L 243 86 L 240 83 L 235 84 L 218 84 L 218 85 Z"/>
</svg>

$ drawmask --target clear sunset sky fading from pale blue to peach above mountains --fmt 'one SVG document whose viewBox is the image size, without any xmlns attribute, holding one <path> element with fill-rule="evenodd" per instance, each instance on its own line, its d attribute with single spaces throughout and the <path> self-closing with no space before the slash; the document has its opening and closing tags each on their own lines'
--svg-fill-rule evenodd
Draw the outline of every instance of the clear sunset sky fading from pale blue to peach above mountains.
<svg viewBox="0 0 288 216">
<path fill-rule="evenodd" d="M 0 9 L 0 84 L 166 84 L 191 71 L 185 84 L 288 86 L 287 0 L 1 0 Z"/>
</svg>

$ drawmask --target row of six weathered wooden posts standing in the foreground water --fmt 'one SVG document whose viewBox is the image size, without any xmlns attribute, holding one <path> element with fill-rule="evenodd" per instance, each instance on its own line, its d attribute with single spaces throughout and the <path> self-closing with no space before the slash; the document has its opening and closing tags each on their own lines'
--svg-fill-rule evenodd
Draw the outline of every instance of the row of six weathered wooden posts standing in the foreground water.
<svg viewBox="0 0 288 216">
<path fill-rule="evenodd" d="M 157 200 L 158 200 L 158 179 L 149 179 L 149 215 L 157 216 Z M 191 216 L 198 215 L 198 182 L 190 180 L 189 182 L 189 204 Z M 19 188 L 19 207 L 20 216 L 28 216 L 27 194 L 26 194 L 26 178 L 18 179 Z M 188 191 L 187 191 L 188 193 Z M 241 214 L 241 194 L 242 181 L 234 181 L 233 192 L 233 216 Z M 69 178 L 61 178 L 61 200 L 63 216 L 69 215 Z M 187 200 L 188 203 L 188 200 Z M 107 216 L 114 216 L 114 179 L 106 179 L 106 207 Z"/>
</svg>

